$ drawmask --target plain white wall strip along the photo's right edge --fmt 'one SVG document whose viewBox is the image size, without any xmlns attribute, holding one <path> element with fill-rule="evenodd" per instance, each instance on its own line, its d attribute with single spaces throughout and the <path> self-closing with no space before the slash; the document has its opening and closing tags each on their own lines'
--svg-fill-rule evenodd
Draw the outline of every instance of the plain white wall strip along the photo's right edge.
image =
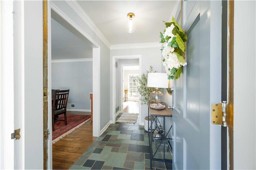
<svg viewBox="0 0 256 170">
<path fill-rule="evenodd" d="M 234 169 L 256 169 L 255 9 L 234 1 Z"/>
</svg>

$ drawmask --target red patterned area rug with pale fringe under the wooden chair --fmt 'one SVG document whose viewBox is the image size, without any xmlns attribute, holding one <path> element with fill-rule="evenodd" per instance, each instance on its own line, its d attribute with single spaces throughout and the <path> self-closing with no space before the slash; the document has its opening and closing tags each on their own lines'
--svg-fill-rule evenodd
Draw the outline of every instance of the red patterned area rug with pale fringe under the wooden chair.
<svg viewBox="0 0 256 170">
<path fill-rule="evenodd" d="M 55 131 L 52 131 L 52 143 L 57 142 L 62 137 L 90 120 L 90 115 L 67 115 L 68 125 L 64 121 L 56 121 L 54 124 Z M 64 119 L 64 115 L 59 115 L 59 119 Z"/>
</svg>

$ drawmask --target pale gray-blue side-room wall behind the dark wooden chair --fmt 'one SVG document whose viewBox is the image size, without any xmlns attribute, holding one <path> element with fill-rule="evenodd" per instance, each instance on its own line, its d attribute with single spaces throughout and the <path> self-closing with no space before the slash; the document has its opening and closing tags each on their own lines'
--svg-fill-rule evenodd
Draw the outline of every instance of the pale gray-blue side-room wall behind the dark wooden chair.
<svg viewBox="0 0 256 170">
<path fill-rule="evenodd" d="M 68 109 L 90 111 L 92 61 L 52 63 L 52 89 L 70 90 L 68 104 L 75 104 L 75 108 Z"/>
</svg>

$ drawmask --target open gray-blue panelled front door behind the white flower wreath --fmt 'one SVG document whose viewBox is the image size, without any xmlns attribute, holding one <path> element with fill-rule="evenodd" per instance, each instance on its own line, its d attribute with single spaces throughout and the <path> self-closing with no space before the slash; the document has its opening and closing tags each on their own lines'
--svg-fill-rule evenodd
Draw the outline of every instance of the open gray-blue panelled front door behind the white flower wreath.
<svg viewBox="0 0 256 170">
<path fill-rule="evenodd" d="M 174 82 L 173 169 L 221 169 L 220 126 L 211 104 L 221 100 L 221 1 L 184 1 L 188 35 L 183 74 Z"/>
</svg>

